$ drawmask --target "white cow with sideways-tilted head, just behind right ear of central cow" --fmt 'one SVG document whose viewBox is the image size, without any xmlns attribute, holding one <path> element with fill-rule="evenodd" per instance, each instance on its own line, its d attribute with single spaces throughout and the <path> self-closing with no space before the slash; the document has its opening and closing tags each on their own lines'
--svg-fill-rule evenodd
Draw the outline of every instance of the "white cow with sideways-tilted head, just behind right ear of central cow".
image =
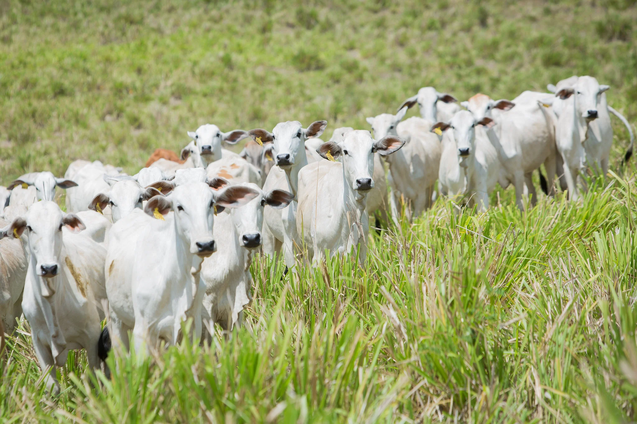
<svg viewBox="0 0 637 424">
<path fill-rule="evenodd" d="M 405 106 L 396 115 L 383 113 L 375 118 L 367 118 L 376 139 L 393 135 L 406 140 L 400 151 L 385 158 L 391 174 L 390 205 L 396 223 L 397 193 L 411 203 L 410 221 L 431 207 L 442 153 L 441 137 L 429 132 L 435 122 L 415 116 L 401 122 L 406 113 Z"/>
</svg>

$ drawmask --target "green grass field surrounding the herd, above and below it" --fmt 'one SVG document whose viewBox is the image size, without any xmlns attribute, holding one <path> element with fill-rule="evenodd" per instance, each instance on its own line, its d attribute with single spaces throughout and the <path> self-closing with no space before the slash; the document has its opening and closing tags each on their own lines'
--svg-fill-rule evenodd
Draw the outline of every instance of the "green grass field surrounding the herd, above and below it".
<svg viewBox="0 0 637 424">
<path fill-rule="evenodd" d="M 326 119 L 326 139 L 428 85 L 512 99 L 589 74 L 637 122 L 634 0 L 4 0 L 0 14 L 4 185 L 78 158 L 134 173 L 203 123 Z M 437 202 L 374 233 L 364 268 L 282 278 L 261 258 L 230 340 L 110 359 L 99 382 L 72 353 L 59 399 L 23 323 L 0 365 L 0 421 L 634 421 L 637 182 L 613 126 L 612 173 L 582 202 L 541 196 L 520 213 L 512 189 L 485 214 Z"/>
</svg>

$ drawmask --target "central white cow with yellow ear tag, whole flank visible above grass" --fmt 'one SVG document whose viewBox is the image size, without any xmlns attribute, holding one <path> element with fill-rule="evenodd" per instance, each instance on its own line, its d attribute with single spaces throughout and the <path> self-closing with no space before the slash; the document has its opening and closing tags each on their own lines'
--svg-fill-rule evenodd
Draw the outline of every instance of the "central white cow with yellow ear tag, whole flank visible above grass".
<svg viewBox="0 0 637 424">
<path fill-rule="evenodd" d="M 322 144 L 318 153 L 333 160 L 310 163 L 299 172 L 297 232 L 312 257 L 349 254 L 359 247 L 359 262 L 367 257 L 369 232 L 367 195 L 374 188 L 374 153 L 387 156 L 404 145 L 399 137 L 371 138 L 369 131 L 346 132 L 338 144 Z M 329 155 L 328 155 L 329 154 Z M 336 161 L 343 156 L 343 163 Z"/>
</svg>

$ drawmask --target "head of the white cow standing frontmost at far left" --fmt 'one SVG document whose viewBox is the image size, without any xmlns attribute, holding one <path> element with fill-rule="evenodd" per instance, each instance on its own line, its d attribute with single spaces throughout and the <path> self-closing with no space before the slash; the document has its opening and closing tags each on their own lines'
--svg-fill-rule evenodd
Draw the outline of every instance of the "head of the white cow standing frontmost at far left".
<svg viewBox="0 0 637 424">
<path fill-rule="evenodd" d="M 17 217 L 10 226 L 4 229 L 8 236 L 19 238 L 27 231 L 31 261 L 36 263 L 34 272 L 39 279 L 39 288 L 44 297 L 55 293 L 47 281 L 61 271 L 62 262 L 62 228 L 66 227 L 71 233 L 79 233 L 86 227 L 75 214 L 65 214 L 55 202 L 47 200 L 37 202 L 29 207 L 23 217 Z"/>
</svg>

